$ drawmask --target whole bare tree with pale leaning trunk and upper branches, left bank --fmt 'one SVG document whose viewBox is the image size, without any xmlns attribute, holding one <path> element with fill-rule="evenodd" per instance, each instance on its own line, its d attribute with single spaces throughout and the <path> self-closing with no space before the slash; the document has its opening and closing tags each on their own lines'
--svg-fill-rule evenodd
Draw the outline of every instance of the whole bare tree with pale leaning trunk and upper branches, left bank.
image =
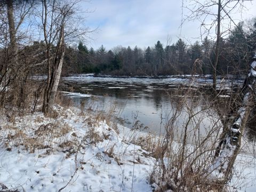
<svg viewBox="0 0 256 192">
<path fill-rule="evenodd" d="M 42 111 L 44 114 L 52 112 L 57 89 L 60 81 L 63 59 L 65 57 L 65 39 L 84 35 L 87 30 L 81 31 L 78 22 L 74 19 L 76 1 L 46 1 L 42 0 L 42 31 L 46 45 L 47 82 L 44 92 Z M 73 22 L 73 23 L 71 23 Z M 66 26 L 69 26 L 67 28 Z M 71 27 L 70 27 L 71 26 Z"/>
</svg>

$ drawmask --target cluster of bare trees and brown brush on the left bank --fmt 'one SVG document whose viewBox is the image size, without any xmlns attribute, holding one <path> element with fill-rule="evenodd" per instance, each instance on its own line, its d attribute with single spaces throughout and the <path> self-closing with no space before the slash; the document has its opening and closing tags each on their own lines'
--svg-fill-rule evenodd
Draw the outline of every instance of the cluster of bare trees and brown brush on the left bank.
<svg viewBox="0 0 256 192">
<path fill-rule="evenodd" d="M 17 111 L 35 111 L 41 101 L 46 115 L 52 110 L 65 48 L 87 32 L 82 23 L 78 24 L 79 19 L 82 21 L 78 3 L 1 1 L 0 108 L 13 113 L 10 120 Z M 41 74 L 47 74 L 47 81 L 35 79 Z"/>
</svg>

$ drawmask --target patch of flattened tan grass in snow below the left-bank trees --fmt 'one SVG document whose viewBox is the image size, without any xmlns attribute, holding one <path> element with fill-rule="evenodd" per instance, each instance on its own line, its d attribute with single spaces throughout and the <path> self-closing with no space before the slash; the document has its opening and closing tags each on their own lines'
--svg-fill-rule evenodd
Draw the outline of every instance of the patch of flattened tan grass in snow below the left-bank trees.
<svg viewBox="0 0 256 192">
<path fill-rule="evenodd" d="M 58 119 L 44 117 L 42 114 L 33 116 L 17 116 L 14 123 L 7 119 L 2 126 L 4 133 L 1 141 L 7 150 L 13 147 L 25 149 L 34 153 L 37 149 L 55 148 L 56 143 L 67 140 L 67 135 L 73 130 L 68 123 L 63 122 L 64 116 L 58 114 Z"/>
</svg>

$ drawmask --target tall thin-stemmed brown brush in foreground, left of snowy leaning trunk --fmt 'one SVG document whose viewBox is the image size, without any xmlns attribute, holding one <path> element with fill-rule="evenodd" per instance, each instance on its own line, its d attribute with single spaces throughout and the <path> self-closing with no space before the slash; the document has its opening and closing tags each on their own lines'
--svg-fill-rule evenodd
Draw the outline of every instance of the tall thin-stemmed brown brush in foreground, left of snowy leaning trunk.
<svg viewBox="0 0 256 192">
<path fill-rule="evenodd" d="M 150 136 L 139 138 L 138 143 L 156 158 L 150 182 L 157 184 L 155 191 L 225 191 L 225 183 L 213 182 L 209 171 L 220 141 L 221 120 L 211 106 L 213 103 L 196 101 L 209 103 L 197 109 L 194 101 L 186 98 L 189 95 L 188 90 L 176 103 L 178 106 L 173 107 L 164 124 L 163 137 L 158 141 Z M 186 114 L 182 116 L 183 123 L 182 114 Z"/>
</svg>

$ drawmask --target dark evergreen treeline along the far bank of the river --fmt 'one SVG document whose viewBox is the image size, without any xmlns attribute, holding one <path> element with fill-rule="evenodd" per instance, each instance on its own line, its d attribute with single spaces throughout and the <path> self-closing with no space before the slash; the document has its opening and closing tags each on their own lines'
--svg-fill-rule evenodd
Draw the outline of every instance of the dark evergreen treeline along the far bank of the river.
<svg viewBox="0 0 256 192">
<path fill-rule="evenodd" d="M 249 58 L 255 49 L 256 22 L 245 26 L 240 22 L 230 35 L 221 38 L 217 66 L 218 75 L 246 74 Z M 79 42 L 77 49 L 69 47 L 63 74 L 95 73 L 125 76 L 159 76 L 178 74 L 211 74 L 214 63 L 215 42 L 207 36 L 202 42 L 188 45 L 183 39 L 163 46 L 157 41 L 153 47 L 142 50 L 116 46 L 111 50 L 101 45 L 99 49 L 88 49 Z"/>
</svg>

